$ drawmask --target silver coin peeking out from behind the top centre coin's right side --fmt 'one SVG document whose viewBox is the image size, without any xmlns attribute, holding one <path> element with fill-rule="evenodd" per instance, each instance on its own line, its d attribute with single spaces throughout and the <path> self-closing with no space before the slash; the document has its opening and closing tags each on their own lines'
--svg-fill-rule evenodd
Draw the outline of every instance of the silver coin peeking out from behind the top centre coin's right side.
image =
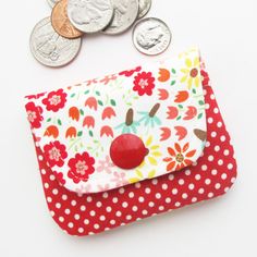
<svg viewBox="0 0 257 257">
<path fill-rule="evenodd" d="M 103 30 L 105 34 L 114 35 L 128 29 L 138 17 L 138 0 L 113 0 L 114 17 Z"/>
</svg>

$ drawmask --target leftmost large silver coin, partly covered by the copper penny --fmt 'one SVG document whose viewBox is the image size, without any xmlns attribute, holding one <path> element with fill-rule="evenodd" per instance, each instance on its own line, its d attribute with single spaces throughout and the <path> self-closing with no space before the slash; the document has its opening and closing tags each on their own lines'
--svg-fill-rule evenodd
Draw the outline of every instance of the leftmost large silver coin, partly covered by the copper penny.
<svg viewBox="0 0 257 257">
<path fill-rule="evenodd" d="M 30 51 L 35 59 L 47 66 L 63 66 L 71 62 L 81 49 L 82 40 L 66 39 L 56 33 L 51 19 L 41 20 L 30 36 Z"/>
</svg>

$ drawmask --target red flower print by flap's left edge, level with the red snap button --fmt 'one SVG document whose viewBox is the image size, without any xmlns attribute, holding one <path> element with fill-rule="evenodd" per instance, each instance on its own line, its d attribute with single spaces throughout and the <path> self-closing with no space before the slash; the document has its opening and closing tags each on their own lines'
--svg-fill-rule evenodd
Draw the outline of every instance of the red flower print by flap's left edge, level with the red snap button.
<svg viewBox="0 0 257 257">
<path fill-rule="evenodd" d="M 62 167 L 64 164 L 64 159 L 68 157 L 66 147 L 58 140 L 44 146 L 44 151 L 50 167 Z"/>
</svg>

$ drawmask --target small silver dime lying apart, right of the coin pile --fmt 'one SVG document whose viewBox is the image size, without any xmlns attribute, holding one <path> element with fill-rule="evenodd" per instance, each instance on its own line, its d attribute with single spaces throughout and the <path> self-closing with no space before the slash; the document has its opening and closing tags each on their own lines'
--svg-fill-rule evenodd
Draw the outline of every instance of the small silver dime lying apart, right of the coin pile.
<svg viewBox="0 0 257 257">
<path fill-rule="evenodd" d="M 136 49 L 148 56 L 156 56 L 167 50 L 171 38 L 167 24 L 156 17 L 140 20 L 133 30 Z"/>
</svg>

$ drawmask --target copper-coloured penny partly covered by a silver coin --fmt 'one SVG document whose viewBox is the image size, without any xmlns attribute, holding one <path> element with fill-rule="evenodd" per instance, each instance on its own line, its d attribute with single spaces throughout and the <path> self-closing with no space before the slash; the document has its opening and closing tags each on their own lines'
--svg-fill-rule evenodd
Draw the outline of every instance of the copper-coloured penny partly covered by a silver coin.
<svg viewBox="0 0 257 257">
<path fill-rule="evenodd" d="M 51 23 L 54 30 L 66 38 L 77 38 L 83 35 L 70 22 L 66 13 L 68 0 L 59 1 L 52 9 Z"/>
</svg>

